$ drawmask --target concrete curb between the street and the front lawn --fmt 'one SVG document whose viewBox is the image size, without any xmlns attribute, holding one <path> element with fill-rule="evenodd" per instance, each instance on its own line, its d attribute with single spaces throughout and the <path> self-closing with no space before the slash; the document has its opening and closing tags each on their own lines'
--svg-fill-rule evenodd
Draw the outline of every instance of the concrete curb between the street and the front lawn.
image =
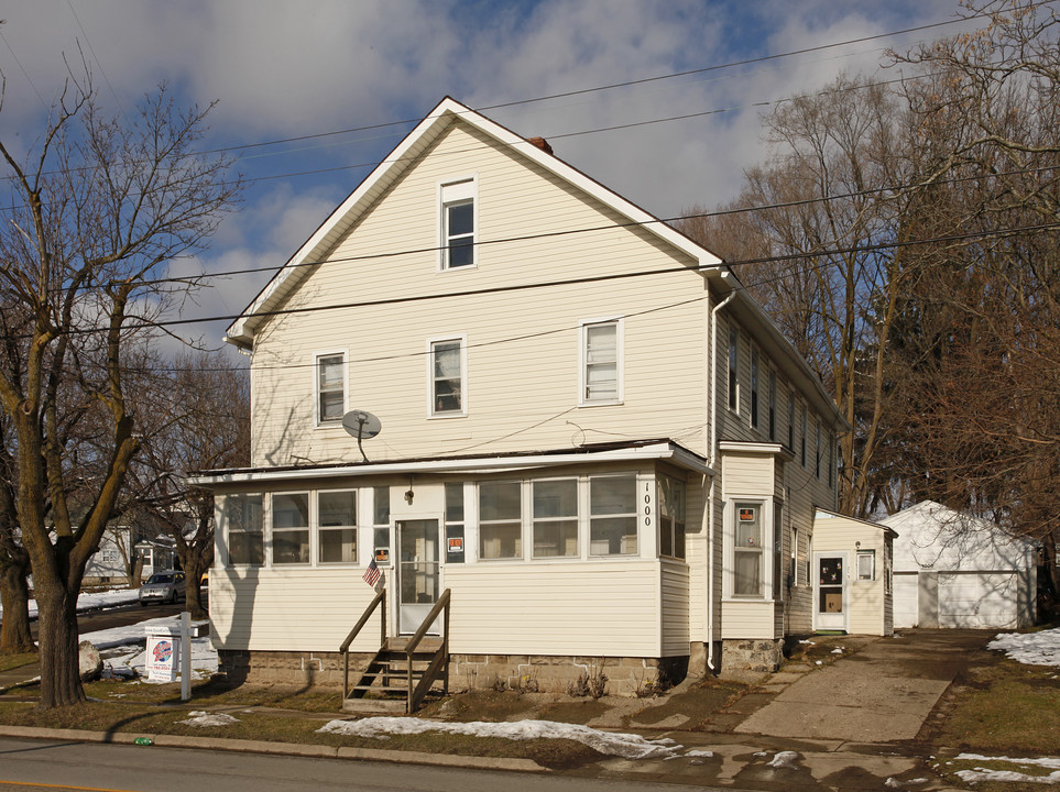
<svg viewBox="0 0 1060 792">
<path fill-rule="evenodd" d="M 78 743 L 106 743 L 110 745 L 135 745 L 146 737 L 163 748 L 199 748 L 207 750 L 241 751 L 244 754 L 272 754 L 320 759 L 348 759 L 353 761 L 380 761 L 397 765 L 426 765 L 435 767 L 469 768 L 476 770 L 511 770 L 515 772 L 548 772 L 533 759 L 504 757 L 476 757 L 457 754 L 425 754 L 423 751 L 385 750 L 383 748 L 347 748 L 318 746 L 304 743 L 269 743 L 266 740 L 241 740 L 223 737 L 187 737 L 183 735 L 154 735 L 135 733 L 87 732 L 84 729 L 56 729 L 39 726 L 0 726 L 0 737 L 24 739 L 52 739 Z"/>
</svg>

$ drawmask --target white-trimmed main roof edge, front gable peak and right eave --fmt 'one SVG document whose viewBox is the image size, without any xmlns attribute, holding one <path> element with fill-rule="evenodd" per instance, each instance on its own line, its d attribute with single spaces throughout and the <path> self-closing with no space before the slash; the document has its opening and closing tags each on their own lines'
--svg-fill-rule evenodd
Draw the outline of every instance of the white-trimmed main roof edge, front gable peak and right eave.
<svg viewBox="0 0 1060 792">
<path fill-rule="evenodd" d="M 832 422 L 841 429 L 849 428 L 832 397 L 824 391 L 820 378 L 798 353 L 791 342 L 780 332 L 762 307 L 747 294 L 739 278 L 724 262 L 702 245 L 693 242 L 669 223 L 626 200 L 618 193 L 608 189 L 578 168 L 568 165 L 536 143 L 491 121 L 471 108 L 446 97 L 427 117 L 420 121 L 404 140 L 370 173 L 349 197 L 331 212 L 308 240 L 269 280 L 251 304 L 243 309 L 227 332 L 226 341 L 243 349 L 251 349 L 258 327 L 283 300 L 309 275 L 313 267 L 307 264 L 324 260 L 343 234 L 367 212 L 383 193 L 408 168 L 419 162 L 419 155 L 453 123 L 460 120 L 470 124 L 482 134 L 501 145 L 517 151 L 531 162 L 573 187 L 600 201 L 631 224 L 638 224 L 647 233 L 681 251 L 698 262 L 696 271 L 711 278 L 718 293 L 734 295 L 729 308 L 739 320 L 752 329 L 762 345 L 772 353 L 786 376 L 798 384 L 799 389 L 810 397 L 810 402 L 821 415 L 831 415 Z"/>
</svg>

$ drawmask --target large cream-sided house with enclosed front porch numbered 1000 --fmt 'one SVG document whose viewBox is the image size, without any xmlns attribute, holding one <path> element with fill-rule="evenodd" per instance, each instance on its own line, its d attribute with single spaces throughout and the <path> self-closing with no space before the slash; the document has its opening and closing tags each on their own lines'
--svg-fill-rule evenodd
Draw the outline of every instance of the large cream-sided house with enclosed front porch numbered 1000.
<svg viewBox="0 0 1060 792">
<path fill-rule="evenodd" d="M 813 629 L 834 404 L 715 255 L 540 139 L 445 99 L 228 340 L 252 466 L 193 479 L 228 669 L 323 680 L 372 559 L 391 635 L 451 592 L 480 685 L 773 668 Z M 359 443 L 353 409 L 382 431 Z"/>
</svg>

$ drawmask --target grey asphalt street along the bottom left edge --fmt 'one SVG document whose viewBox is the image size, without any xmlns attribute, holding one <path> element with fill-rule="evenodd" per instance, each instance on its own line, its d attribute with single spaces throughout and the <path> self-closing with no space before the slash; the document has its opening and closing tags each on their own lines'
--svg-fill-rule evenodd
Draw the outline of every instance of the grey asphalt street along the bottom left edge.
<svg viewBox="0 0 1060 792">
<path fill-rule="evenodd" d="M 231 754 L 159 746 L 0 738 L 0 790 L 96 792 L 643 792 L 709 789 L 643 780 L 581 779 L 340 759 Z M 731 792 L 731 790 L 730 790 Z"/>
</svg>

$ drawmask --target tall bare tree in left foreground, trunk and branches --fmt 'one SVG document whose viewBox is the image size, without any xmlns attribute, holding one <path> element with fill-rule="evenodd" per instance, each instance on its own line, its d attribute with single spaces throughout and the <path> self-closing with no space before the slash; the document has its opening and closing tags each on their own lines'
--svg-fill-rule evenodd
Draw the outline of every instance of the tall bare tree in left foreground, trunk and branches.
<svg viewBox="0 0 1060 792">
<path fill-rule="evenodd" d="M 40 615 L 44 708 L 85 698 L 77 595 L 140 448 L 123 350 L 140 316 L 164 299 L 152 276 L 201 250 L 238 196 L 227 162 L 195 152 L 205 116 L 176 108 L 163 86 L 134 121 L 109 119 L 90 79 L 72 77 L 26 153 L 0 140 L 9 189 L 0 287 L 24 309 L 25 350 L 0 371 L 0 407 L 18 449 L 17 513 Z M 91 480 L 64 444 L 67 403 L 95 410 L 106 452 L 91 460 Z"/>
</svg>

